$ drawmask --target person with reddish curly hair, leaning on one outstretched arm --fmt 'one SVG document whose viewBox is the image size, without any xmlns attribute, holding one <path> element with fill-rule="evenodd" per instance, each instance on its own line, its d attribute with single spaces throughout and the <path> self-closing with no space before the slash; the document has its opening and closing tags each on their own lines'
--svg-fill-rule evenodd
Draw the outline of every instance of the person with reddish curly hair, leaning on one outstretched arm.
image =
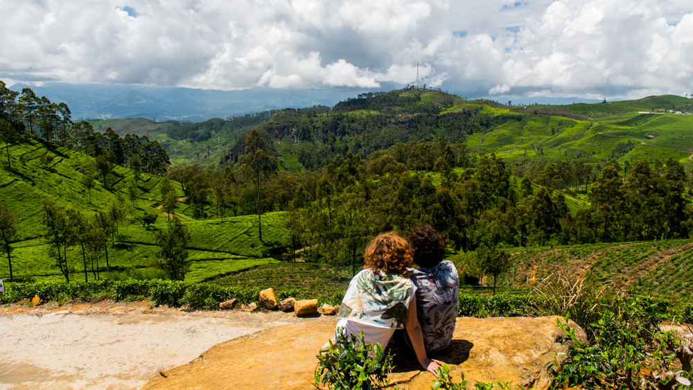
<svg viewBox="0 0 693 390">
<path fill-rule="evenodd" d="M 358 335 L 362 331 L 367 342 L 384 349 L 396 329 L 406 329 L 419 364 L 437 378 L 441 363 L 426 357 L 416 320 L 416 287 L 407 277 L 412 260 L 407 241 L 392 233 L 381 234 L 368 245 L 364 258 L 364 269 L 351 279 L 342 299 L 335 338 L 340 332 Z"/>
</svg>

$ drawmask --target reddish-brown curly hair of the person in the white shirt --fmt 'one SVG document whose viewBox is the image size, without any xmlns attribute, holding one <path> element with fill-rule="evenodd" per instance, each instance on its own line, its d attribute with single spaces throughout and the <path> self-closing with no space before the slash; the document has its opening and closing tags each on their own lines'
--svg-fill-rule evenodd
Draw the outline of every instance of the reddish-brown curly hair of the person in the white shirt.
<svg viewBox="0 0 693 390">
<path fill-rule="evenodd" d="M 364 268 L 385 274 L 407 276 L 407 267 L 412 264 L 412 254 L 407 240 L 394 233 L 383 233 L 366 247 L 363 257 Z"/>
</svg>

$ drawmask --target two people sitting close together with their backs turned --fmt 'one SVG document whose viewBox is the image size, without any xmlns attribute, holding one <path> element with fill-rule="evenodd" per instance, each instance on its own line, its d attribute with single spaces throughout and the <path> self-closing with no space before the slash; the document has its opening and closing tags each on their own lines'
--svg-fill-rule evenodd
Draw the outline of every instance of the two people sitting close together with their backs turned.
<svg viewBox="0 0 693 390">
<path fill-rule="evenodd" d="M 342 299 L 335 335 L 363 331 L 367 342 L 384 348 L 398 331 L 400 347 L 413 350 L 423 369 L 437 377 L 441 362 L 428 355 L 450 347 L 459 276 L 455 265 L 443 260 L 445 245 L 432 227 L 415 229 L 409 241 L 393 233 L 371 241 L 364 269 L 351 279 Z M 412 260 L 419 268 L 411 267 Z"/>
</svg>

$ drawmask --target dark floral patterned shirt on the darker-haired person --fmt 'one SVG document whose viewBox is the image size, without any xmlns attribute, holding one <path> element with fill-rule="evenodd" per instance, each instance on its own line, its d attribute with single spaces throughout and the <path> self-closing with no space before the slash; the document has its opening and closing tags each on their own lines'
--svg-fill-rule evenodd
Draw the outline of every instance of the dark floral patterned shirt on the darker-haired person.
<svg viewBox="0 0 693 390">
<path fill-rule="evenodd" d="M 459 276 L 449 261 L 431 268 L 410 269 L 416 286 L 416 315 L 419 317 L 426 352 L 446 348 L 453 339 L 459 306 Z M 405 338 L 412 346 L 409 337 Z"/>
</svg>

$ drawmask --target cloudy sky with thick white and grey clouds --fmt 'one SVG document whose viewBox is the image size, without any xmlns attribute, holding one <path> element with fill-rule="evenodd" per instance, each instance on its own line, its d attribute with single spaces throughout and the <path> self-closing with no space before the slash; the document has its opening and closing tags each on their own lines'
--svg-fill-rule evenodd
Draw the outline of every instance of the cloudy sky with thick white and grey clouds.
<svg viewBox="0 0 693 390">
<path fill-rule="evenodd" d="M 3 0 L 0 80 L 693 93 L 690 0 Z"/>
</svg>

